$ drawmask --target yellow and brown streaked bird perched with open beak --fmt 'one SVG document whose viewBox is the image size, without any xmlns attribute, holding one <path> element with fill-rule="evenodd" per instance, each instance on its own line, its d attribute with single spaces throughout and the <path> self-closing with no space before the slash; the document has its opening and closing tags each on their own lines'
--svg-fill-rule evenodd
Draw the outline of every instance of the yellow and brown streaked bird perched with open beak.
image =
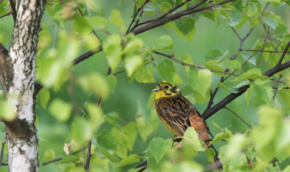
<svg viewBox="0 0 290 172">
<path fill-rule="evenodd" d="M 151 91 L 156 92 L 154 108 L 156 113 L 167 129 L 182 138 L 187 127 L 194 127 L 200 141 L 209 139 L 208 133 L 213 137 L 209 126 L 202 118 L 193 104 L 182 95 L 177 85 L 163 81 L 155 83 L 158 88 Z M 211 165 L 215 171 L 222 171 L 222 164 L 218 158 L 218 152 L 209 142 L 204 143 L 204 149 L 213 148 L 215 156 Z"/>
</svg>

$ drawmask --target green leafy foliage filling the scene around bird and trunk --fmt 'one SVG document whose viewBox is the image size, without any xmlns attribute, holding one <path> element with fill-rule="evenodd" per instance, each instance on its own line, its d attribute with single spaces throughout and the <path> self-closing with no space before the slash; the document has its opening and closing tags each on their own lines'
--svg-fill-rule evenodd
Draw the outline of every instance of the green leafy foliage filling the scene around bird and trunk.
<svg viewBox="0 0 290 172">
<path fill-rule="evenodd" d="M 221 4 L 211 6 L 215 3 Z M 0 16 L 9 12 L 8 4 L 8 0 L 0 3 Z M 155 87 L 148 83 L 162 80 L 177 84 L 200 114 L 212 104 L 228 101 L 223 99 L 229 94 L 242 95 L 226 105 L 252 122 L 253 129 L 222 109 L 225 105 L 207 120 L 215 135 L 210 143 L 219 148 L 224 171 L 289 170 L 289 66 L 265 74 L 290 60 L 290 50 L 283 55 L 290 39 L 289 23 L 284 22 L 289 0 L 211 4 L 197 0 L 47 3 L 35 72 L 37 82 L 44 85 L 36 100 L 39 160 L 41 164 L 63 158 L 55 162 L 58 165 L 40 165 L 40 170 L 84 170 L 87 152 L 75 151 L 93 136 L 89 168 L 96 171 L 138 171 L 133 168 L 144 160 L 154 172 L 204 171 L 203 166 L 213 160 L 213 149 L 203 149 L 204 142 L 192 127 L 184 134 L 182 148 L 176 149 L 172 134 L 157 118 L 152 107 L 155 95 L 150 92 Z M 158 18 L 167 12 L 169 17 Z M 126 33 L 130 16 L 136 24 Z M 0 21 L 0 42 L 8 47 L 12 16 Z M 73 63 L 78 56 L 90 58 Z M 13 119 L 4 99 L 1 96 L 0 117 Z M 229 125 L 233 126 L 224 128 Z M 0 129 L 4 138 L 4 125 Z M 66 155 L 64 142 L 70 139 L 76 141 Z M 0 169 L 7 171 L 6 166 Z"/>
</svg>

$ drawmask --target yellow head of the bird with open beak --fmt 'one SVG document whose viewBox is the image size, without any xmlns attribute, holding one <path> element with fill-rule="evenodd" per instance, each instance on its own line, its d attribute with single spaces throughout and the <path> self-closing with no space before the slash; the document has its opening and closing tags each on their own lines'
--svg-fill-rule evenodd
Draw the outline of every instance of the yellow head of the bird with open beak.
<svg viewBox="0 0 290 172">
<path fill-rule="evenodd" d="M 159 88 L 155 88 L 151 91 L 156 92 L 156 98 L 163 98 L 163 97 L 173 97 L 181 94 L 180 89 L 177 85 L 174 84 L 172 86 L 170 83 L 163 81 L 161 83 L 156 83 L 154 85 L 158 85 Z"/>
</svg>

